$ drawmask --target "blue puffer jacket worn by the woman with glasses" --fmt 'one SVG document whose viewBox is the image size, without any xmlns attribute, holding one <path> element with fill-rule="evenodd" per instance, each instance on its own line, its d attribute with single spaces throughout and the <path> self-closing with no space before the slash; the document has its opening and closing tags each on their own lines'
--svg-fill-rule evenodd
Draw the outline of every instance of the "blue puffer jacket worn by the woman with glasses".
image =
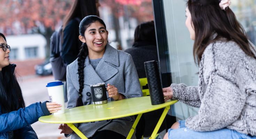
<svg viewBox="0 0 256 139">
<path fill-rule="evenodd" d="M 37 139 L 30 124 L 37 122 L 41 116 L 50 114 L 46 102 L 33 103 L 18 111 L 4 114 L 1 113 L 0 106 L 0 139 Z"/>
</svg>

